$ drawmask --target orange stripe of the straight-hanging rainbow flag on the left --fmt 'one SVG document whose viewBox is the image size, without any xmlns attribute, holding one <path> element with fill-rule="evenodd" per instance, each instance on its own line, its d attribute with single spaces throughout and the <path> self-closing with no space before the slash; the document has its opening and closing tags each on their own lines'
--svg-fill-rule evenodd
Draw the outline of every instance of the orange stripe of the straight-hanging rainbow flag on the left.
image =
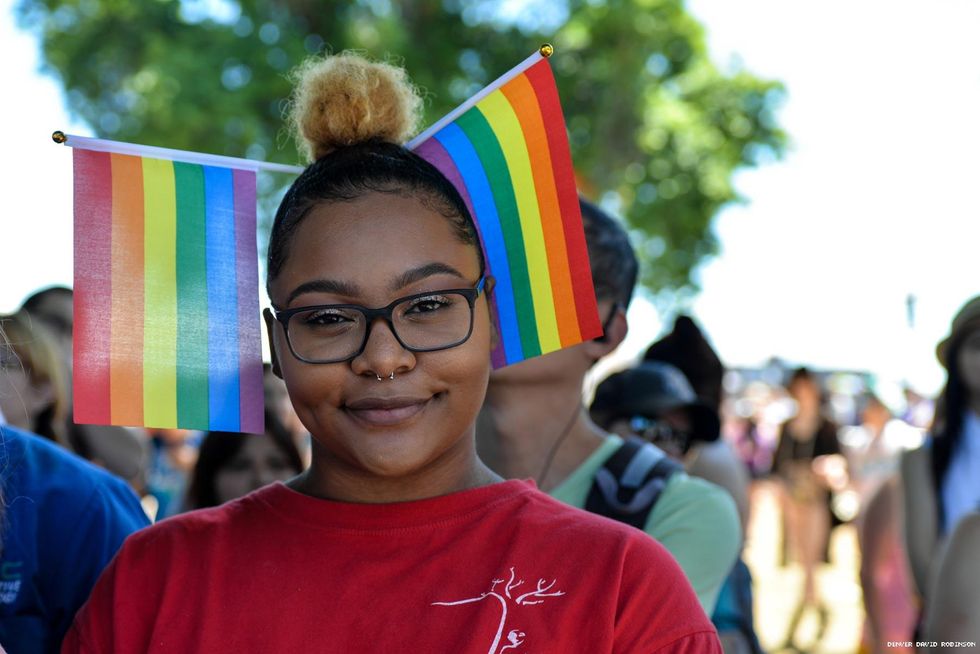
<svg viewBox="0 0 980 654">
<path fill-rule="evenodd" d="M 112 155 L 112 424 L 143 424 L 143 164 Z"/>
</svg>

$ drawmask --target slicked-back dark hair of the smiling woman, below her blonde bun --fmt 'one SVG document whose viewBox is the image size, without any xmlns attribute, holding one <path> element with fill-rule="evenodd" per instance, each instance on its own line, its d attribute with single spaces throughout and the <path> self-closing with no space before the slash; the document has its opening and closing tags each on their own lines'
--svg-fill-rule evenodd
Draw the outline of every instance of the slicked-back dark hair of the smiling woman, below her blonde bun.
<svg viewBox="0 0 980 654">
<path fill-rule="evenodd" d="M 449 220 L 460 242 L 476 246 L 480 270 L 485 270 L 473 218 L 456 187 L 414 152 L 371 140 L 330 152 L 293 182 L 272 224 L 267 284 L 282 270 L 292 236 L 313 207 L 321 202 L 349 202 L 368 193 L 418 194 L 426 206 Z"/>
</svg>

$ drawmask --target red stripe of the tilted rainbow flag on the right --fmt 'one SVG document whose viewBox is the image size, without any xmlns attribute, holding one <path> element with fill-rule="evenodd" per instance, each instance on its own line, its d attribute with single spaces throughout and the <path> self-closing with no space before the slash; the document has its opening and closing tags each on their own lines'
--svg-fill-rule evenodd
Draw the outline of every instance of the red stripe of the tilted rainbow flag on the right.
<svg viewBox="0 0 980 654">
<path fill-rule="evenodd" d="M 538 96 L 541 118 L 548 133 L 548 148 L 551 150 L 551 165 L 555 169 L 555 189 L 558 192 L 558 205 L 565 229 L 565 247 L 575 295 L 575 312 L 582 339 L 588 340 L 602 334 L 602 324 L 599 322 L 599 310 L 592 285 L 589 251 L 585 245 L 585 233 L 582 231 L 582 210 L 578 203 L 578 189 L 575 187 L 575 171 L 572 169 L 572 154 L 568 148 L 565 118 L 548 60 L 536 63 L 524 74 Z"/>
</svg>

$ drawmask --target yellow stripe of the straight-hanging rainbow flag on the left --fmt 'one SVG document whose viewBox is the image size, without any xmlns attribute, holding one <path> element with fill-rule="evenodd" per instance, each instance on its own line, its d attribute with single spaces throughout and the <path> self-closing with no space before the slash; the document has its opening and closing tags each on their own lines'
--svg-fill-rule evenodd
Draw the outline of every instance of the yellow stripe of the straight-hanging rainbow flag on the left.
<svg viewBox="0 0 980 654">
<path fill-rule="evenodd" d="M 143 418 L 177 426 L 177 195 L 172 161 L 143 159 Z"/>
</svg>

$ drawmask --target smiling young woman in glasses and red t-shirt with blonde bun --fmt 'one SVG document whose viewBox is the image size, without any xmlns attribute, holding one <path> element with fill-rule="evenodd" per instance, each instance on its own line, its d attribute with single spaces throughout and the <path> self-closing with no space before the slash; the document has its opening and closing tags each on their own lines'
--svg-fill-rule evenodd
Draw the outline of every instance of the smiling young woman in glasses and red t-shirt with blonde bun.
<svg viewBox="0 0 980 654">
<path fill-rule="evenodd" d="M 127 541 L 64 651 L 720 652 L 661 546 L 478 459 L 493 282 L 459 194 L 399 145 L 419 103 L 356 56 L 304 69 L 314 162 L 266 323 L 312 466 Z"/>
</svg>

